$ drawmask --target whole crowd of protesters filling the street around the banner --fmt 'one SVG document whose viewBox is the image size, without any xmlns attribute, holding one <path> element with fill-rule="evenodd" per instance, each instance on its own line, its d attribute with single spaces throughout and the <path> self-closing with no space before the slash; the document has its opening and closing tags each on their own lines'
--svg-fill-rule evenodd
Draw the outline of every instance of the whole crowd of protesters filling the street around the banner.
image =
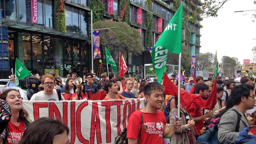
<svg viewBox="0 0 256 144">
<path fill-rule="evenodd" d="M 90 100 L 91 96 L 98 92 L 105 92 L 105 97 L 102 99 L 104 101 L 144 98 L 145 107 L 132 113 L 128 120 L 129 144 L 163 143 L 164 135 L 170 137 L 172 144 L 195 144 L 206 127 L 208 129 L 208 121 L 218 121 L 219 143 L 231 143 L 236 142 L 242 129 L 256 124 L 256 84 L 253 84 L 253 79 L 248 76 L 241 78 L 241 85 L 235 85 L 232 78 L 227 80 L 216 77 L 215 107 L 212 110 L 202 107 L 187 110 L 186 105 L 180 105 L 180 117 L 177 116 L 178 97 L 166 95 L 162 83 L 150 83 L 148 77 L 138 80 L 115 74 L 109 74 L 107 77 L 103 73 L 100 76 L 101 80 L 96 80 L 95 74 L 87 73 L 78 86 L 73 83 L 78 77 L 76 73 L 67 76 L 64 88 L 59 88 L 60 86 L 56 86 L 56 83 L 61 81 L 55 72 L 43 75 L 41 78 L 43 89 L 33 94 L 30 100 L 58 101 L 65 100 L 66 95 L 70 96 L 70 100 Z M 178 88 L 178 80 L 175 77 L 176 75 L 172 75 L 171 81 Z M 209 77 L 208 81 L 204 82 L 203 77 L 197 76 L 195 80 L 196 84 L 193 78 L 189 78 L 187 83 L 181 84 L 181 90 L 207 101 L 212 93 L 215 79 Z M 54 143 L 55 140 L 69 143 L 67 138 L 69 129 L 59 121 L 39 118 L 31 123 L 28 113 L 22 108 L 23 100 L 19 91 L 6 90 L 0 95 L 0 99 L 9 103 L 12 112 L 10 122 L 4 131 L 6 136 L 0 139 L 3 143 L 50 143 L 49 141 Z M 170 113 L 167 116 L 165 107 L 170 107 Z M 48 128 L 39 126 L 46 123 Z M 35 130 L 38 127 L 40 132 Z M 41 132 L 48 133 L 48 131 L 52 131 L 52 135 L 40 135 Z M 12 138 L 13 135 L 20 137 Z"/>
</svg>

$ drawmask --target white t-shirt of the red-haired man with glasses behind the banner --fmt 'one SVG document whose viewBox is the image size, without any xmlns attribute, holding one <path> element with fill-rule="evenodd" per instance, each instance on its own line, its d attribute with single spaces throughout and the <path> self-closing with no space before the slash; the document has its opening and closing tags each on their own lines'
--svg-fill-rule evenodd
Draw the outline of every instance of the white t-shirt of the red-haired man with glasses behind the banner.
<svg viewBox="0 0 256 144">
<path fill-rule="evenodd" d="M 43 91 L 39 91 L 38 93 L 33 94 L 30 100 L 31 101 L 58 101 L 59 97 L 56 89 L 53 89 L 52 95 L 46 95 L 43 93 Z M 61 100 L 65 100 L 62 94 L 61 94 Z"/>
</svg>

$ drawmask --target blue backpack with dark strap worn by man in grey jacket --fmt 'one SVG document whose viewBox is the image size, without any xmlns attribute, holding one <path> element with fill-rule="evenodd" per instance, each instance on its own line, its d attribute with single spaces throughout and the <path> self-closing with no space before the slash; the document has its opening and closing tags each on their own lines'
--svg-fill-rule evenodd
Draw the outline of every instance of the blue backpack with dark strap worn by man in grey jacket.
<svg viewBox="0 0 256 144">
<path fill-rule="evenodd" d="M 236 123 L 236 131 L 239 132 L 239 127 L 240 127 L 240 120 L 241 120 L 241 115 L 238 113 L 238 111 L 231 109 L 236 112 L 238 119 Z M 211 127 L 210 129 L 207 129 L 203 134 L 201 134 L 197 138 L 197 144 L 216 144 L 219 143 L 218 140 L 218 124 L 214 123 L 214 126 Z"/>
</svg>

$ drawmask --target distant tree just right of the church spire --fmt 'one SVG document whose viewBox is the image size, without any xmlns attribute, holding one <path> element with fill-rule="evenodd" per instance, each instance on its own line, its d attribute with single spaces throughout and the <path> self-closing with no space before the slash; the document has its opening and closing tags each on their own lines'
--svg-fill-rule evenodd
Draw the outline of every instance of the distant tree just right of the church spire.
<svg viewBox="0 0 256 144">
<path fill-rule="evenodd" d="M 223 74 L 224 76 L 230 76 L 229 74 L 233 73 L 233 69 L 236 68 L 237 63 L 236 59 L 230 58 L 229 56 L 223 56 L 221 58 L 223 64 Z"/>
</svg>

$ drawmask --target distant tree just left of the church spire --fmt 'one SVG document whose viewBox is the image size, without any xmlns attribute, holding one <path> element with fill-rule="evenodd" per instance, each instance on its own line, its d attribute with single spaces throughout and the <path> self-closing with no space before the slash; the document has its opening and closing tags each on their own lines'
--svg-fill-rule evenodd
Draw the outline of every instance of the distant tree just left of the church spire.
<svg viewBox="0 0 256 144">
<path fill-rule="evenodd" d="M 214 54 L 212 53 L 198 53 L 196 55 L 197 68 L 199 70 L 204 70 L 206 67 L 211 66 L 214 62 Z"/>
</svg>

